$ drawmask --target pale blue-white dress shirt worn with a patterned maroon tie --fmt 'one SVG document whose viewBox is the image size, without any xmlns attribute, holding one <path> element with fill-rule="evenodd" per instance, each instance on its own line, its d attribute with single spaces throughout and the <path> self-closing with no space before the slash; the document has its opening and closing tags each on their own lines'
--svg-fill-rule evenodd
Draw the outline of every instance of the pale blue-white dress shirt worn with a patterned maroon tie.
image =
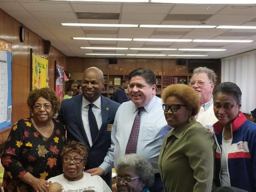
<svg viewBox="0 0 256 192">
<path fill-rule="evenodd" d="M 141 112 L 137 154 L 144 156 L 158 173 L 158 156 L 163 139 L 172 129 L 167 125 L 162 108 L 162 99 L 154 96 Z M 125 155 L 126 145 L 131 133 L 133 121 L 138 110 L 132 101 L 122 103 L 115 116 L 111 132 L 111 147 L 100 167 L 107 173 L 119 157 Z M 113 162 L 114 160 L 114 162 Z"/>
</svg>

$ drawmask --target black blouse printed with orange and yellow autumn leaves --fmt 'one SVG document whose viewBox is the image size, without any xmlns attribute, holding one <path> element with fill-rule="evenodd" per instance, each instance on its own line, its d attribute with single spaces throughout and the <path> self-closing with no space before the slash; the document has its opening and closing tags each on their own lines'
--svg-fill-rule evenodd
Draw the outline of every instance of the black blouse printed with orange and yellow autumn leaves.
<svg viewBox="0 0 256 192">
<path fill-rule="evenodd" d="M 1 158 L 4 166 L 4 191 L 34 191 L 20 180 L 27 172 L 36 178 L 49 179 L 62 173 L 61 151 L 66 128 L 58 120 L 49 138 L 41 135 L 30 118 L 21 119 L 12 127 Z"/>
</svg>

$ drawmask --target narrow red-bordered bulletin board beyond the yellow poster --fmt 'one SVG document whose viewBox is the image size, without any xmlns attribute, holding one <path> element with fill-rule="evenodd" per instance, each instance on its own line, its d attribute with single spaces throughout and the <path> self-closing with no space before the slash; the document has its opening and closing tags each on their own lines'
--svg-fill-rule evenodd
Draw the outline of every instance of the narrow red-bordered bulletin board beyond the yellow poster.
<svg viewBox="0 0 256 192">
<path fill-rule="evenodd" d="M 63 100 L 63 73 L 64 73 L 64 67 L 62 67 L 63 64 L 55 61 L 55 93 L 57 97 L 60 98 L 60 101 Z"/>
</svg>

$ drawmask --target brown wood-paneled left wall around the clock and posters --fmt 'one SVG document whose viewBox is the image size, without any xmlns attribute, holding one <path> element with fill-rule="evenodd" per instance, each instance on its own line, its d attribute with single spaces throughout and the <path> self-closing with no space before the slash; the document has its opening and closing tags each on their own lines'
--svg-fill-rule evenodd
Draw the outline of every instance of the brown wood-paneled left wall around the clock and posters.
<svg viewBox="0 0 256 192">
<path fill-rule="evenodd" d="M 12 43 L 12 124 L 21 118 L 29 117 L 27 98 L 30 92 L 31 81 L 31 52 L 44 53 L 44 39 L 33 31 L 25 28 L 25 41 L 20 42 L 19 30 L 21 23 L 0 9 L 0 38 Z M 66 56 L 51 46 L 49 54 L 49 86 L 54 89 L 55 60 L 66 63 Z M 3 143 L 10 132 L 5 129 L 0 132 L 0 143 Z"/>
</svg>

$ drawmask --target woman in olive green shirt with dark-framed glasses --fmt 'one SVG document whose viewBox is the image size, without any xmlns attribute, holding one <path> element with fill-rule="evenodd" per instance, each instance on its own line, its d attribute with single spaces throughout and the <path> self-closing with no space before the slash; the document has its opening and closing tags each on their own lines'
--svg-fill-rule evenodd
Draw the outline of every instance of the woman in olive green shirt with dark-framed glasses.
<svg viewBox="0 0 256 192">
<path fill-rule="evenodd" d="M 200 99 L 188 85 L 168 86 L 163 94 L 166 135 L 158 168 L 165 192 L 210 192 L 213 182 L 213 139 L 195 120 Z"/>
</svg>

